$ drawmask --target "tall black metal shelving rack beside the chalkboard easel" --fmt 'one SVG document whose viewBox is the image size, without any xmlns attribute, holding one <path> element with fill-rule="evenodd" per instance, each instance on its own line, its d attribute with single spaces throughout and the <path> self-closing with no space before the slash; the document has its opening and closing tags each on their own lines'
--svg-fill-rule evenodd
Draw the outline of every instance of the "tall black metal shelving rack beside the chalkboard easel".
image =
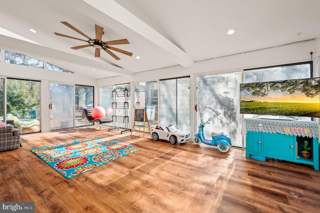
<svg viewBox="0 0 320 213">
<path fill-rule="evenodd" d="M 128 90 L 127 88 L 117 87 L 112 90 L 112 109 L 113 109 L 113 115 L 112 115 L 112 122 L 113 127 L 109 128 L 109 130 L 112 129 L 119 129 L 120 127 L 117 126 L 116 123 L 124 123 L 124 129 L 121 130 L 121 133 L 124 131 L 130 131 L 131 129 L 128 128 L 129 123 L 129 116 L 128 116 Z M 120 113 L 117 114 L 121 110 Z"/>
</svg>

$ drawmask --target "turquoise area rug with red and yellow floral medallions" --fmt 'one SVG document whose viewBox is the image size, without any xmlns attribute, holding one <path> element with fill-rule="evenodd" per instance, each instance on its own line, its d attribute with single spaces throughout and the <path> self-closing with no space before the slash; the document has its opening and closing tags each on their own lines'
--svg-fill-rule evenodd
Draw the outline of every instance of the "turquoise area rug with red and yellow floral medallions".
<svg viewBox="0 0 320 213">
<path fill-rule="evenodd" d="M 69 179 L 137 150 L 110 140 L 86 137 L 30 151 Z"/>
</svg>

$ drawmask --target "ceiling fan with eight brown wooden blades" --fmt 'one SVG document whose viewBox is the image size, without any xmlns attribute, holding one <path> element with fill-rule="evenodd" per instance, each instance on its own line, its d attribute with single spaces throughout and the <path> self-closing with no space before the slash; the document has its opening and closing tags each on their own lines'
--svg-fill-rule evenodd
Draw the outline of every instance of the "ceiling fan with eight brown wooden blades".
<svg viewBox="0 0 320 213">
<path fill-rule="evenodd" d="M 118 56 L 116 56 L 113 52 L 111 52 L 109 49 L 120 52 L 122 54 L 129 55 L 129 56 L 132 55 L 132 52 L 128 52 L 128 51 L 125 51 L 122 49 L 118 49 L 118 48 L 109 46 L 109 45 L 115 45 L 115 44 L 127 44 L 127 43 L 129 43 L 129 41 L 127 39 L 110 40 L 110 41 L 103 42 L 102 41 L 103 27 L 101 27 L 101 26 L 98 26 L 95 24 L 95 39 L 92 39 L 89 36 L 87 36 L 86 34 L 84 34 L 83 32 L 81 32 L 80 30 L 78 30 L 77 28 L 75 28 L 74 26 L 72 26 L 71 24 L 69 24 L 68 22 L 61 21 L 61 23 L 70 27 L 71 29 L 80 33 L 81 35 L 83 35 L 84 37 L 86 37 L 88 39 L 88 40 L 84 40 L 81 38 L 76 38 L 76 37 L 72 37 L 69 35 L 64 35 L 64 34 L 54 32 L 54 34 L 59 35 L 59 36 L 82 40 L 82 41 L 85 41 L 88 43 L 85 45 L 73 46 L 73 47 L 71 47 L 72 49 L 80 49 L 80 48 L 84 48 L 84 47 L 88 47 L 88 46 L 93 46 L 95 48 L 94 57 L 100 57 L 100 49 L 103 49 L 104 51 L 106 51 L 108 54 L 110 54 L 116 60 L 119 60 L 120 58 Z"/>
</svg>

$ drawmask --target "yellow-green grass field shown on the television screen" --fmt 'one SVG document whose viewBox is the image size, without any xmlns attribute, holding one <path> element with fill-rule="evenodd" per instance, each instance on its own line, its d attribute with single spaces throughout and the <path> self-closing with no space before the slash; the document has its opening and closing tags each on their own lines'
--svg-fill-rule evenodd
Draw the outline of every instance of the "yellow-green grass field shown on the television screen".
<svg viewBox="0 0 320 213">
<path fill-rule="evenodd" d="M 320 117 L 320 104 L 292 102 L 240 102 L 240 113 Z"/>
</svg>

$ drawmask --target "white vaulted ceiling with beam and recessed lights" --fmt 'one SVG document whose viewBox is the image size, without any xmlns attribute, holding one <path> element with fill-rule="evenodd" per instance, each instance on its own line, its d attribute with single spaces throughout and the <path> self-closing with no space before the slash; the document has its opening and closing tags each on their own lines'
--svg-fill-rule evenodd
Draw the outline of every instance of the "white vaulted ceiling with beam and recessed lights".
<svg viewBox="0 0 320 213">
<path fill-rule="evenodd" d="M 319 38 L 319 8 L 320 0 L 5 0 L 0 27 L 40 45 L 1 35 L 0 47 L 96 79 L 133 75 Z M 121 58 L 115 60 L 104 51 L 94 57 L 90 46 L 73 50 L 87 43 L 53 32 L 87 39 L 60 21 L 91 38 L 94 24 L 102 26 L 102 41 L 127 38 L 129 44 L 113 46 L 133 55 L 114 52 Z M 229 28 L 236 32 L 227 35 Z"/>
</svg>

